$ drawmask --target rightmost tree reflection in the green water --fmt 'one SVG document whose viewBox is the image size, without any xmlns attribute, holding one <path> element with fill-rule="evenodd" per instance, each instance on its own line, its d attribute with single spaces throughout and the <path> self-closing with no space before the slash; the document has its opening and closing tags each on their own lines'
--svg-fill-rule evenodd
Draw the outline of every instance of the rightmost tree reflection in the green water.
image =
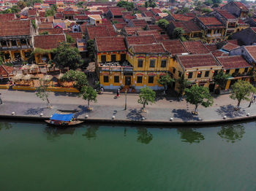
<svg viewBox="0 0 256 191">
<path fill-rule="evenodd" d="M 244 125 L 224 125 L 217 133 L 222 140 L 234 143 L 240 141 L 244 136 L 245 130 Z"/>
</svg>

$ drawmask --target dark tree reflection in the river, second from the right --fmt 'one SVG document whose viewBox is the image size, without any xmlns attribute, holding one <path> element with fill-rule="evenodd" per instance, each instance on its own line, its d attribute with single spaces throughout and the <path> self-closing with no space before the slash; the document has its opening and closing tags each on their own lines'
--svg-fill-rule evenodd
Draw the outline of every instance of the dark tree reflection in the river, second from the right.
<svg viewBox="0 0 256 191">
<path fill-rule="evenodd" d="M 205 139 L 202 133 L 197 132 L 193 128 L 178 128 L 177 131 L 181 135 L 181 140 L 189 144 L 200 143 L 200 141 Z"/>
</svg>

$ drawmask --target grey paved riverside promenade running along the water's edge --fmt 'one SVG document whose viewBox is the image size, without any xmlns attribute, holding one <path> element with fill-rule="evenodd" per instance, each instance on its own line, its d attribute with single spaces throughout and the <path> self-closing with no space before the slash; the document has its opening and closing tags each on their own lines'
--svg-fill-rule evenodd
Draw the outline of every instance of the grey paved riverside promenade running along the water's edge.
<svg viewBox="0 0 256 191">
<path fill-rule="evenodd" d="M 250 117 L 256 117 L 256 103 L 248 107 L 248 101 L 241 102 L 241 110 L 235 111 L 234 107 L 237 101 L 230 99 L 229 95 L 219 95 L 214 98 L 214 105 L 208 108 L 199 106 L 198 115 L 192 115 L 194 106 L 188 104 L 187 101 L 178 101 L 177 98 L 165 98 L 160 96 L 155 104 L 146 106 L 147 113 L 140 111 L 141 105 L 138 104 L 137 94 L 127 94 L 127 110 L 124 110 L 125 95 L 121 94 L 119 98 L 114 98 L 116 94 L 103 93 L 98 95 L 97 103 L 91 102 L 90 106 L 93 111 L 87 110 L 87 101 L 78 97 L 75 93 L 50 93 L 49 100 L 52 108 L 46 107 L 46 102 L 37 98 L 34 92 L 18 91 L 18 90 L 0 90 L 3 104 L 0 105 L 0 115 L 10 115 L 15 112 L 15 116 L 50 117 L 59 109 L 73 110 L 77 118 L 85 118 L 89 116 L 89 120 L 115 120 L 142 121 L 143 122 L 214 122 L 226 121 L 230 119 L 244 119 L 249 113 Z M 247 117 L 248 118 L 248 117 Z"/>
</svg>

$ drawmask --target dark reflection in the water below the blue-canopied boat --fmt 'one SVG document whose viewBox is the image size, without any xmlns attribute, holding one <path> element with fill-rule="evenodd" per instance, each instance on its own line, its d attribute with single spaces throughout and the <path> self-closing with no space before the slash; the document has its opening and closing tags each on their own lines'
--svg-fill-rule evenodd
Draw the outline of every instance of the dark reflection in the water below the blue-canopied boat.
<svg viewBox="0 0 256 191">
<path fill-rule="evenodd" d="M 46 133 L 46 138 L 49 141 L 56 141 L 61 139 L 61 135 L 72 135 L 75 132 L 75 128 L 53 128 L 46 127 L 44 132 Z"/>
</svg>

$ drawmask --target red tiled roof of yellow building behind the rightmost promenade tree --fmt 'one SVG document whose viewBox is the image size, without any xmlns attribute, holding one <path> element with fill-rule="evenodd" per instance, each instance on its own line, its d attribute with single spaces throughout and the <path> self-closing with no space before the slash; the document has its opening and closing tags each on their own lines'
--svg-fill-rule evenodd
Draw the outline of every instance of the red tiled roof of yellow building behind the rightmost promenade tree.
<svg viewBox="0 0 256 191">
<path fill-rule="evenodd" d="M 224 69 L 241 69 L 252 67 L 241 55 L 222 56 L 217 57 L 217 59 Z"/>
</svg>

